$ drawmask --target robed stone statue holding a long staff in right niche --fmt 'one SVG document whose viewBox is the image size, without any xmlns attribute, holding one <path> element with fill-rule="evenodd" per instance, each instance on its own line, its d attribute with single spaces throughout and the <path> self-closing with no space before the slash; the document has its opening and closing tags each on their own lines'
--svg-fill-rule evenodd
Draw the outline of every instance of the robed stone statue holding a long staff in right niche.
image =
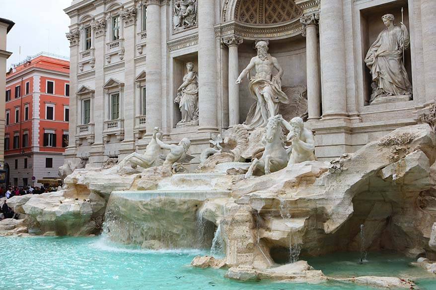
<svg viewBox="0 0 436 290">
<path fill-rule="evenodd" d="M 412 95 L 412 85 L 403 64 L 403 52 L 409 48 L 409 32 L 401 22 L 394 24 L 394 15 L 381 17 L 386 29 L 378 35 L 365 57 L 372 75 L 370 102 L 389 96 Z"/>
</svg>

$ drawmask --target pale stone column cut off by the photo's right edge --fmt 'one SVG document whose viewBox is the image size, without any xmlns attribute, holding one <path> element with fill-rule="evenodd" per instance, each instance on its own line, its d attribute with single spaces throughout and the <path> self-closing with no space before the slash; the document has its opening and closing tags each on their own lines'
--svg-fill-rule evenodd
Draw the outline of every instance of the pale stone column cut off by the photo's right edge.
<svg viewBox="0 0 436 290">
<path fill-rule="evenodd" d="M 421 0 L 421 22 L 423 29 L 424 76 L 427 102 L 436 98 L 436 1 Z"/>
</svg>

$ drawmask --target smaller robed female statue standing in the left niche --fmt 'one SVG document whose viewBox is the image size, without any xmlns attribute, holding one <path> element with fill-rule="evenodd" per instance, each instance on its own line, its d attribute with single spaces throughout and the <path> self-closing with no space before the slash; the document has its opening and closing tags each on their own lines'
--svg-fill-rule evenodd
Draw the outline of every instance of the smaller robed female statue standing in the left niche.
<svg viewBox="0 0 436 290">
<path fill-rule="evenodd" d="M 177 89 L 174 103 L 179 104 L 182 119 L 177 126 L 198 125 L 198 74 L 194 71 L 194 63 L 186 63 L 188 72 L 183 77 L 183 83 Z"/>
</svg>

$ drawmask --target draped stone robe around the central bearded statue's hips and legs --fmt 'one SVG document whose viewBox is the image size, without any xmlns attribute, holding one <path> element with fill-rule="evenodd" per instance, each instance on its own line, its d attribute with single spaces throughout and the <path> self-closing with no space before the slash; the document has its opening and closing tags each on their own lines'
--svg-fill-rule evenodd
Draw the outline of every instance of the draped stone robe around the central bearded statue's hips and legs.
<svg viewBox="0 0 436 290">
<path fill-rule="evenodd" d="M 264 114 L 268 115 L 267 104 L 266 102 L 261 104 L 256 96 L 256 90 L 258 90 L 263 96 L 267 87 L 271 89 L 275 115 L 279 113 L 280 103 L 288 104 L 289 102 L 288 96 L 282 91 L 282 80 L 279 76 L 275 75 L 272 81 L 258 77 L 252 77 L 250 79 L 250 83 L 248 84 L 248 88 L 250 89 L 251 97 L 256 99 L 257 103 L 254 103 L 251 106 L 247 115 L 247 119 L 245 120 L 245 127 L 247 130 L 265 127 L 268 123 L 268 120 L 264 120 L 262 117 L 262 110 L 265 110 Z"/>
</svg>

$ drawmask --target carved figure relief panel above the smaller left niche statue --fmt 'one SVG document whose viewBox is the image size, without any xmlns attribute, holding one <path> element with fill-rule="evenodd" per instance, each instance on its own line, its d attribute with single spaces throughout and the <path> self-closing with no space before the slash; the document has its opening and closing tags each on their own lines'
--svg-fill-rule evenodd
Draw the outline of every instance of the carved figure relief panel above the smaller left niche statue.
<svg viewBox="0 0 436 290">
<path fill-rule="evenodd" d="M 198 27 L 197 0 L 172 0 L 173 34 Z"/>
</svg>

